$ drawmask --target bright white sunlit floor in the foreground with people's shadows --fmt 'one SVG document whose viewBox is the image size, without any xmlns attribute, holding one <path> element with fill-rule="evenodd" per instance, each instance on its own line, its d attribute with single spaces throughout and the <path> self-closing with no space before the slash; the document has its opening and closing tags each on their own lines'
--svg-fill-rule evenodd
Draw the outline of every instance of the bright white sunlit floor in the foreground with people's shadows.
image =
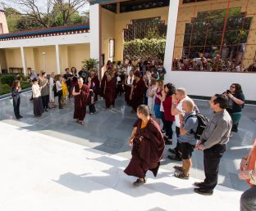
<svg viewBox="0 0 256 211">
<path fill-rule="evenodd" d="M 240 191 L 217 186 L 212 196 L 198 195 L 196 179 L 180 180 L 162 168 L 135 187 L 135 178 L 123 172 L 129 159 L 31 128 L 1 122 L 0 128 L 1 211 L 239 210 Z M 117 140 L 103 145 L 117 150 Z"/>
</svg>

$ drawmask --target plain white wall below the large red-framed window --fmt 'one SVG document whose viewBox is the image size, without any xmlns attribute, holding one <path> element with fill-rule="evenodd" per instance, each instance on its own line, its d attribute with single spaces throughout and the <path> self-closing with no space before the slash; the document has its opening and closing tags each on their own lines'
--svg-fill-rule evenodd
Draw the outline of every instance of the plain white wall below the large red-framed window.
<svg viewBox="0 0 256 211">
<path fill-rule="evenodd" d="M 225 92 L 231 83 L 240 83 L 245 99 L 256 101 L 256 74 L 249 73 L 218 73 L 171 71 L 165 83 L 176 84 L 176 88 L 186 88 L 189 95 L 211 97 L 216 93 Z"/>
</svg>

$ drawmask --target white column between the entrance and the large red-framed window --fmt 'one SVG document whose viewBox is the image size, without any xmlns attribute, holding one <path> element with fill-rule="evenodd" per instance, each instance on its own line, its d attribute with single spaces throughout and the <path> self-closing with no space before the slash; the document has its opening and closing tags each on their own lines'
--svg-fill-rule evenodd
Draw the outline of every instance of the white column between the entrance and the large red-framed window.
<svg viewBox="0 0 256 211">
<path fill-rule="evenodd" d="M 171 81 L 171 68 L 176 38 L 176 25 L 179 11 L 179 0 L 170 0 L 168 25 L 167 25 L 167 43 L 164 55 L 164 67 L 167 70 L 165 81 Z"/>
</svg>

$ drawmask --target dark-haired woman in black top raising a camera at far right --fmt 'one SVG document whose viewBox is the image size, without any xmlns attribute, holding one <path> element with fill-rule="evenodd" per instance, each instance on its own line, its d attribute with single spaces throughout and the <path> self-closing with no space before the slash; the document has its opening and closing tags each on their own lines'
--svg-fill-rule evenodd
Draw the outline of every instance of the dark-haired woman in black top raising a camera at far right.
<svg viewBox="0 0 256 211">
<path fill-rule="evenodd" d="M 242 109 L 245 106 L 245 95 L 239 83 L 232 83 L 231 88 L 224 92 L 228 97 L 227 112 L 232 119 L 232 132 L 238 131 L 238 123 L 242 117 Z"/>
</svg>

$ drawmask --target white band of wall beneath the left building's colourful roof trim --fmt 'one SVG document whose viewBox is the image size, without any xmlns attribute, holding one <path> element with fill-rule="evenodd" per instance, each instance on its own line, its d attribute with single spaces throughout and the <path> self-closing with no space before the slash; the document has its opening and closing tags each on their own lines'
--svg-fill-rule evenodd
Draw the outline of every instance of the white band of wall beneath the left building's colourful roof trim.
<svg viewBox="0 0 256 211">
<path fill-rule="evenodd" d="M 39 47 L 39 46 L 55 46 L 55 45 L 68 45 L 68 44 L 79 44 L 79 43 L 89 43 L 89 33 L 81 34 L 68 34 L 59 35 L 52 37 L 42 37 L 42 38 L 25 38 L 16 40 L 7 40 L 0 42 L 1 48 L 11 48 L 11 47 Z"/>
</svg>

